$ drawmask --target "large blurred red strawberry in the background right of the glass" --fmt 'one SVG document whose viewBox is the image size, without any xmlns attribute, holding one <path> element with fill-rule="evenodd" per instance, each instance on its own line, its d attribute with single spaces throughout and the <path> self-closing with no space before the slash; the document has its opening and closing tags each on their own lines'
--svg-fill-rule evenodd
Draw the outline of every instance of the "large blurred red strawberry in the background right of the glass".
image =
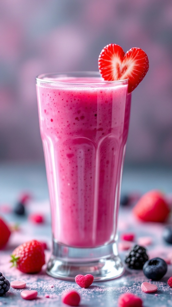
<svg viewBox="0 0 172 307">
<path fill-rule="evenodd" d="M 133 208 L 133 213 L 140 220 L 147 222 L 164 222 L 170 208 L 163 194 L 153 190 L 144 194 Z"/>
</svg>

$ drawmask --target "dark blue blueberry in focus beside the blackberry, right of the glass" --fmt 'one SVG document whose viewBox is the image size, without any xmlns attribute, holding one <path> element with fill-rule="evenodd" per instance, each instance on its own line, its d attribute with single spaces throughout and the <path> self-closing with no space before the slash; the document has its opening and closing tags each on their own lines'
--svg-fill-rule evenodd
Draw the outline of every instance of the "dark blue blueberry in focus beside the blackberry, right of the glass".
<svg viewBox="0 0 172 307">
<path fill-rule="evenodd" d="M 153 258 L 145 262 L 143 266 L 144 275 L 152 280 L 161 279 L 167 271 L 167 264 L 161 258 Z"/>
</svg>

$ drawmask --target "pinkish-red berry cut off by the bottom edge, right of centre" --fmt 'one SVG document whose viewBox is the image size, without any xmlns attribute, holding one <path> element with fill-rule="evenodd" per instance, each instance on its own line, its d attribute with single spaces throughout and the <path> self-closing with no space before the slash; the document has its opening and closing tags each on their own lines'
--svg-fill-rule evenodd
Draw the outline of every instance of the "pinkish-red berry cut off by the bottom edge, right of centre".
<svg viewBox="0 0 172 307">
<path fill-rule="evenodd" d="M 142 307 L 142 300 L 140 297 L 132 293 L 124 293 L 118 299 L 118 307 Z"/>
</svg>

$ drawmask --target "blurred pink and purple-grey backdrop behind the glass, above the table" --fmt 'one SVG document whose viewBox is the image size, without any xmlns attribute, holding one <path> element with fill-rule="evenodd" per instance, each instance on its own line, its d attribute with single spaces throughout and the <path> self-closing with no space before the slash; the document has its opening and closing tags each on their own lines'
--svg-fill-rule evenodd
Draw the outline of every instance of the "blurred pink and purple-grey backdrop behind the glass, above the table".
<svg viewBox="0 0 172 307">
<path fill-rule="evenodd" d="M 5 0 L 0 33 L 0 161 L 43 161 L 35 77 L 97 71 L 116 43 L 150 63 L 133 92 L 125 163 L 171 164 L 171 0 Z"/>
</svg>

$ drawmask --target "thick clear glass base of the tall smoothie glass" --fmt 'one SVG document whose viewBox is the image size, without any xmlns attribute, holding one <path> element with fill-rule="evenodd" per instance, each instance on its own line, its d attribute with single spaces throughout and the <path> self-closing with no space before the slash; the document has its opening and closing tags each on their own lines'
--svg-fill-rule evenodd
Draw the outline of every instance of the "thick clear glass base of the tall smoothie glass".
<svg viewBox="0 0 172 307">
<path fill-rule="evenodd" d="M 116 243 L 94 248 L 68 247 L 53 240 L 53 253 L 47 264 L 47 274 L 74 281 L 78 274 L 92 274 L 95 281 L 117 278 L 124 273 Z"/>
</svg>

